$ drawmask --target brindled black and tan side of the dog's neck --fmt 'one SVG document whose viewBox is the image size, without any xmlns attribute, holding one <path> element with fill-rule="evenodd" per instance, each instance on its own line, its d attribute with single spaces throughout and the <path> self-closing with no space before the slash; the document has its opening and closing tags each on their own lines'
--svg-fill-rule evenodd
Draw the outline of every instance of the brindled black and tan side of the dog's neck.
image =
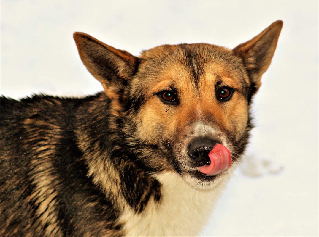
<svg viewBox="0 0 319 237">
<path fill-rule="evenodd" d="M 78 108 L 75 133 L 77 144 L 87 164 L 87 176 L 121 212 L 126 205 L 142 211 L 150 197 L 160 199 L 160 184 L 134 162 L 133 149 L 127 149 L 116 120 L 121 120 L 110 108 L 104 94 L 92 97 Z"/>
</svg>

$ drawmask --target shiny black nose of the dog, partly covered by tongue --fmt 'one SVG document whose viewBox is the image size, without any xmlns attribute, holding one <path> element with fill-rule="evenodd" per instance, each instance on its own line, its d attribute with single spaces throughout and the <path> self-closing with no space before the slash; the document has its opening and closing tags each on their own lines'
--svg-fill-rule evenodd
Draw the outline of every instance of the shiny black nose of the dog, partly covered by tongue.
<svg viewBox="0 0 319 237">
<path fill-rule="evenodd" d="M 213 149 L 217 142 L 209 138 L 196 138 L 190 141 L 187 148 L 187 153 L 190 158 L 196 162 L 210 164 L 211 160 L 208 153 Z"/>
</svg>

